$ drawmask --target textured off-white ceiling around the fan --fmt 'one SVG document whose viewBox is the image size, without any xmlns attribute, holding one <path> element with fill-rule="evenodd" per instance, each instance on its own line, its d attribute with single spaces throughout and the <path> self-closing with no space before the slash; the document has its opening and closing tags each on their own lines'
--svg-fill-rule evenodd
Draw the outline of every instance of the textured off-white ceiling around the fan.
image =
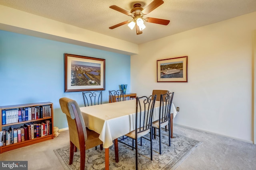
<svg viewBox="0 0 256 170">
<path fill-rule="evenodd" d="M 164 4 L 146 17 L 170 20 L 169 25 L 145 22 L 146 28 L 140 35 L 127 24 L 108 28 L 132 19 L 109 6 L 116 5 L 130 12 L 135 3 L 145 8 L 150 2 L 152 0 L 0 0 L 4 6 L 136 44 L 256 11 L 256 0 L 164 0 Z"/>
</svg>

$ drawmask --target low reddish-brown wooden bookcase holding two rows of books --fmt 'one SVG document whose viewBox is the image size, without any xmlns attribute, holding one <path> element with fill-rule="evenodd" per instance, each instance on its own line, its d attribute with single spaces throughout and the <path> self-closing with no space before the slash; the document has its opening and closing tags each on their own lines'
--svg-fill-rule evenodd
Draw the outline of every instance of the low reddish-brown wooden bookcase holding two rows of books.
<svg viewBox="0 0 256 170">
<path fill-rule="evenodd" d="M 37 106 L 50 106 L 51 115 L 49 117 L 43 117 L 43 118 L 40 118 L 40 119 L 34 119 L 34 120 L 22 121 L 22 122 L 16 122 L 16 123 L 8 123 L 8 124 L 5 124 L 5 125 L 2 125 L 2 110 L 25 108 L 25 107 L 37 107 Z M 43 136 L 43 137 L 37 137 L 37 138 L 34 138 L 34 139 L 22 141 L 22 142 L 18 142 L 18 143 L 13 143 L 13 144 L 6 145 L 6 146 L 2 146 L 2 147 L 0 147 L 0 153 L 6 152 L 6 151 L 9 151 L 9 150 L 13 150 L 13 149 L 17 149 L 17 148 L 20 148 L 20 147 L 25 147 L 25 146 L 28 146 L 28 145 L 32 145 L 32 144 L 39 143 L 39 142 L 42 142 L 42 141 L 46 141 L 46 140 L 49 140 L 49 139 L 54 139 L 54 136 L 53 136 L 53 127 L 54 127 L 54 125 L 53 125 L 53 104 L 51 102 L 21 104 L 21 105 L 12 105 L 12 106 L 0 106 L 0 113 L 1 113 L 1 116 L 0 116 L 0 131 L 2 131 L 3 129 L 7 130 L 10 127 L 18 128 L 18 127 L 23 126 L 26 123 L 32 123 L 32 122 L 41 123 L 41 122 L 44 122 L 45 120 L 49 120 L 50 122 L 52 122 L 52 128 L 51 128 L 52 134 L 46 135 L 46 136 Z"/>
</svg>

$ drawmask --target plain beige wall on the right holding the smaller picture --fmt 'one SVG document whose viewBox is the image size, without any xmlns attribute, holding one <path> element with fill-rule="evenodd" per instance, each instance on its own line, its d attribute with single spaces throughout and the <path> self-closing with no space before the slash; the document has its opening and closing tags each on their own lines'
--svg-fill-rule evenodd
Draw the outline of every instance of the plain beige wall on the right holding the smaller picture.
<svg viewBox="0 0 256 170">
<path fill-rule="evenodd" d="M 252 143 L 255 18 L 256 12 L 139 45 L 131 91 L 173 91 L 180 107 L 174 123 Z M 188 56 L 188 82 L 156 82 L 156 60 L 181 56 Z"/>
</svg>

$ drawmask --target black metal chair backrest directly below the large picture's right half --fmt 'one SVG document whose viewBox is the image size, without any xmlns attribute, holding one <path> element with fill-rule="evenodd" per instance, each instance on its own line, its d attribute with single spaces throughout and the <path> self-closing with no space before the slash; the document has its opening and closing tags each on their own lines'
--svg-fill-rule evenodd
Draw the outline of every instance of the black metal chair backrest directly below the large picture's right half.
<svg viewBox="0 0 256 170">
<path fill-rule="evenodd" d="M 83 92 L 84 106 L 102 104 L 102 91 Z"/>
</svg>

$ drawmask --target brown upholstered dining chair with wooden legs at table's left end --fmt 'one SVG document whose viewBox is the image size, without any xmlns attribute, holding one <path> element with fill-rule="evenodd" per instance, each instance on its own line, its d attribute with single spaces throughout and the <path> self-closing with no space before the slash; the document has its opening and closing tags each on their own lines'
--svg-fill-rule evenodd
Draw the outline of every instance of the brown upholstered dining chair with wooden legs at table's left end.
<svg viewBox="0 0 256 170">
<path fill-rule="evenodd" d="M 73 162 L 74 151 L 80 150 L 80 170 L 85 168 L 85 150 L 98 145 L 103 149 L 103 142 L 99 139 L 99 134 L 86 128 L 84 118 L 75 100 L 60 98 L 60 107 L 66 114 L 68 120 L 68 130 L 70 137 L 70 157 L 69 164 Z"/>
</svg>

